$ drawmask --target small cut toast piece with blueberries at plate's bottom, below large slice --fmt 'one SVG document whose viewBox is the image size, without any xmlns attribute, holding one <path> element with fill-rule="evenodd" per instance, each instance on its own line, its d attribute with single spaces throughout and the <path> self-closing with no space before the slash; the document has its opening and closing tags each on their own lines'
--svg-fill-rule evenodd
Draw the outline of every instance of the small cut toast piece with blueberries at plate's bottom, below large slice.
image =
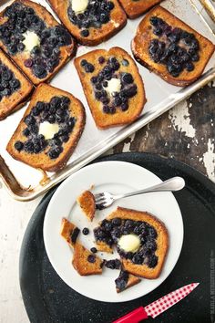
<svg viewBox="0 0 215 323">
<path fill-rule="evenodd" d="M 129 274 L 128 271 L 122 269 L 118 278 L 115 279 L 117 293 L 121 293 L 129 287 L 137 285 L 140 281 L 141 279 L 139 277 Z"/>
</svg>

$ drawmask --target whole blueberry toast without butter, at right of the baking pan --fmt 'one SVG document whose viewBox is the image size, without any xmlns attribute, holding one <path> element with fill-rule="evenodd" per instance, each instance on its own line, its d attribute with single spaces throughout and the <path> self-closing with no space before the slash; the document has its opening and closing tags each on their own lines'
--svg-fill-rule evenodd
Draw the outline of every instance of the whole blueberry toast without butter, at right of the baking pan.
<svg viewBox="0 0 215 323">
<path fill-rule="evenodd" d="M 184 87 L 200 78 L 215 47 L 158 5 L 140 22 L 131 49 L 141 65 L 170 84 Z"/>
</svg>

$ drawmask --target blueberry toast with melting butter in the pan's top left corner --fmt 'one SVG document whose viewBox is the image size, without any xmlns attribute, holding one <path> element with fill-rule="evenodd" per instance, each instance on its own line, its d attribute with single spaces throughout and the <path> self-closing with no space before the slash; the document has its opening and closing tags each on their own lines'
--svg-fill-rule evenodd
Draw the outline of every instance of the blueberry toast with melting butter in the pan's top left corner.
<svg viewBox="0 0 215 323">
<path fill-rule="evenodd" d="M 44 6 L 15 0 L 0 13 L 0 47 L 37 85 L 66 64 L 75 43 Z"/>
</svg>

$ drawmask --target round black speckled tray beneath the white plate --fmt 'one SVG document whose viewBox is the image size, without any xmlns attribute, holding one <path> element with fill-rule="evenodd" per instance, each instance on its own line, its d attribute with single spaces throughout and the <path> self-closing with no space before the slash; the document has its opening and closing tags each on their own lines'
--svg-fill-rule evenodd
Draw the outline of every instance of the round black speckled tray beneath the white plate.
<svg viewBox="0 0 215 323">
<path fill-rule="evenodd" d="M 139 306 L 179 287 L 200 282 L 188 297 L 148 322 L 207 323 L 210 320 L 210 262 L 215 245 L 215 185 L 189 166 L 158 155 L 128 152 L 99 161 L 133 162 L 162 180 L 182 176 L 186 188 L 175 193 L 184 221 L 184 244 L 179 261 L 169 277 L 145 297 L 126 303 L 104 303 L 75 292 L 56 275 L 43 240 L 46 207 L 56 188 L 37 206 L 24 236 L 20 254 L 20 286 L 26 311 L 34 323 L 109 323 Z M 170 246 L 171 247 L 171 246 Z M 102 288 L 102 286 L 101 286 Z"/>
</svg>

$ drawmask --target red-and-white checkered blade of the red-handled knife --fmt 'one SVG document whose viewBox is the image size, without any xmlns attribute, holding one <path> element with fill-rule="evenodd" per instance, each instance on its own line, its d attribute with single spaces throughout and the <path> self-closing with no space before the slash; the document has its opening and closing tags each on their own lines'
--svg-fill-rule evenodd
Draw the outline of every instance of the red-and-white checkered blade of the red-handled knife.
<svg viewBox="0 0 215 323">
<path fill-rule="evenodd" d="M 198 285 L 199 283 L 192 283 L 187 286 L 181 287 L 164 297 L 160 297 L 158 300 L 149 304 L 147 307 L 144 307 L 145 311 L 148 314 L 148 317 L 156 318 L 160 313 L 178 303 L 179 300 L 183 297 L 186 297 Z"/>
</svg>

